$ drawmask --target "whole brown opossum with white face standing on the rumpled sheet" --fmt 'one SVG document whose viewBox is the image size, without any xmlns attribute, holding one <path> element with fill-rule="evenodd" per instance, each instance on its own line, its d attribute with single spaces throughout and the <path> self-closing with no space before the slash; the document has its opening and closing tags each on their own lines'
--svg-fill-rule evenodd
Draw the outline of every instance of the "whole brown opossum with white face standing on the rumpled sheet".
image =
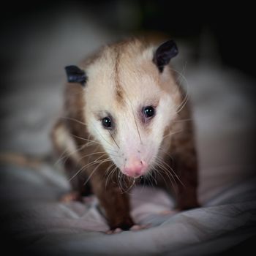
<svg viewBox="0 0 256 256">
<path fill-rule="evenodd" d="M 176 54 L 173 41 L 156 48 L 130 39 L 67 67 L 75 83 L 67 83 L 53 142 L 74 189 L 90 184 L 112 230 L 134 225 L 126 191 L 138 177 L 176 188 L 177 208 L 197 206 L 191 116 L 168 66 Z"/>
</svg>

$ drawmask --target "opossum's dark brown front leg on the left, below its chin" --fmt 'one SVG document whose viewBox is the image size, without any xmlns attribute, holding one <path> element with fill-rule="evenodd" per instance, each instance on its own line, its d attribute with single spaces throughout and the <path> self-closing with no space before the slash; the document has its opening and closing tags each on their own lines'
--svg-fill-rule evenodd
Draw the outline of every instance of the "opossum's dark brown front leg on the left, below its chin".
<svg viewBox="0 0 256 256">
<path fill-rule="evenodd" d="M 110 230 L 129 230 L 135 225 L 129 214 L 129 195 L 123 193 L 116 184 L 105 184 L 100 175 L 91 176 L 91 187 L 105 211 Z"/>
</svg>

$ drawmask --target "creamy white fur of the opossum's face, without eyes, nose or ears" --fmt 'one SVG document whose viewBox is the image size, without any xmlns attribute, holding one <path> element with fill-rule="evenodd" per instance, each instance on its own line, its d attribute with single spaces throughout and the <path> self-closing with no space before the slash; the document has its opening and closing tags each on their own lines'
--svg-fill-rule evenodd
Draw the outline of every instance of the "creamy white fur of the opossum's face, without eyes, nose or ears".
<svg viewBox="0 0 256 256">
<path fill-rule="evenodd" d="M 137 160 L 149 167 L 154 164 L 165 129 L 176 116 L 179 99 L 170 70 L 166 68 L 160 74 L 152 61 L 153 48 L 141 52 L 139 46 L 140 42 L 131 43 L 119 56 L 118 86 L 124 98 L 121 102 L 116 97 L 115 50 L 105 48 L 102 56 L 86 67 L 86 124 L 122 171 Z M 156 106 L 156 116 L 146 127 L 140 115 L 148 105 Z M 115 121 L 115 141 L 102 127 L 101 118 L 108 113 Z"/>
</svg>

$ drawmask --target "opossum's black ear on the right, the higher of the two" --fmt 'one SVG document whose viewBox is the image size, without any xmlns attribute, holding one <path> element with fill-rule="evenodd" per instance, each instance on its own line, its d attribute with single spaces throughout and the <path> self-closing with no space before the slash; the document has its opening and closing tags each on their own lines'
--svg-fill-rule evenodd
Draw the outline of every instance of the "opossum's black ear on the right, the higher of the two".
<svg viewBox="0 0 256 256">
<path fill-rule="evenodd" d="M 165 65 L 170 62 L 170 59 L 178 54 L 178 48 L 176 42 L 168 40 L 157 48 L 154 53 L 154 64 L 157 65 L 159 72 L 164 70 Z"/>
</svg>

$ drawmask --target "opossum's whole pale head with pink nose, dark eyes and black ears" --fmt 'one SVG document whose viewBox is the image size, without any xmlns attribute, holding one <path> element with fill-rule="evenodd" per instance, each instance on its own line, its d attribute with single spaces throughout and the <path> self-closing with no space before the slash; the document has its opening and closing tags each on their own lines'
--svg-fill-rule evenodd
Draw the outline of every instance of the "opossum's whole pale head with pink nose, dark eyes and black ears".
<svg viewBox="0 0 256 256">
<path fill-rule="evenodd" d="M 84 69 L 75 69 L 75 79 L 86 82 L 89 133 L 127 176 L 146 175 L 154 166 L 176 116 L 181 95 L 167 64 L 177 53 L 172 40 L 155 48 L 135 39 L 105 47 Z"/>
</svg>

